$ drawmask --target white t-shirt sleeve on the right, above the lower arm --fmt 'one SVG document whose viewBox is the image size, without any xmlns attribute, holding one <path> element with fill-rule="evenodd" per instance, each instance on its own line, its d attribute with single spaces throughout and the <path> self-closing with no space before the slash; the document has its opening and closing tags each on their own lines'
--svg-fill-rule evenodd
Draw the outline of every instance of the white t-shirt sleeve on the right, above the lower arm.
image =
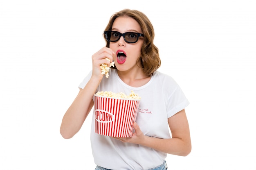
<svg viewBox="0 0 256 170">
<path fill-rule="evenodd" d="M 166 106 L 168 118 L 175 115 L 177 112 L 181 111 L 188 105 L 189 100 L 186 98 L 180 86 L 177 85 L 175 90 L 168 97 Z"/>
</svg>

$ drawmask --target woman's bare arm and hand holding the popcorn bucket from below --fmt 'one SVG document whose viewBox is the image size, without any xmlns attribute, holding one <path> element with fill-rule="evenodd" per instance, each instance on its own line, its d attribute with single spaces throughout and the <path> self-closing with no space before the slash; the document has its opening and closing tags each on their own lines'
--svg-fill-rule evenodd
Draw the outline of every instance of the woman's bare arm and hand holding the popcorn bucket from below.
<svg viewBox="0 0 256 170">
<path fill-rule="evenodd" d="M 149 137 L 142 133 L 137 123 L 134 123 L 135 133 L 130 138 L 117 138 L 122 142 L 141 144 L 155 150 L 172 155 L 187 156 L 191 152 L 191 139 L 189 123 L 186 118 L 185 110 L 179 111 L 171 118 L 168 124 L 172 133 L 171 139 L 160 139 Z"/>
</svg>

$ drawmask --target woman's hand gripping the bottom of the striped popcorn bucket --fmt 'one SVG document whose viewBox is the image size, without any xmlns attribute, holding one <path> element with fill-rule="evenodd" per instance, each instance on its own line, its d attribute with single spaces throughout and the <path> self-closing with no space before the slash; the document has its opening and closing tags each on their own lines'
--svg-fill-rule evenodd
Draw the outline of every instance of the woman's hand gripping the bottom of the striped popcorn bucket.
<svg viewBox="0 0 256 170">
<path fill-rule="evenodd" d="M 141 141 L 143 141 L 145 135 L 140 130 L 139 125 L 136 122 L 133 123 L 133 128 L 135 130 L 135 133 L 132 134 L 132 137 L 113 137 L 113 138 L 118 139 L 122 142 L 140 144 Z"/>
</svg>

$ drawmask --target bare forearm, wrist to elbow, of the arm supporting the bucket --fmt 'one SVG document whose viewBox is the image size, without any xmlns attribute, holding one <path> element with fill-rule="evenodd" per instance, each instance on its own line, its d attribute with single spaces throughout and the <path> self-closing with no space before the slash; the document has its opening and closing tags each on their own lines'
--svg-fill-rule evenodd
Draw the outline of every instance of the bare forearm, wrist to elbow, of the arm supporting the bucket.
<svg viewBox="0 0 256 170">
<path fill-rule="evenodd" d="M 191 152 L 190 139 L 159 139 L 144 136 L 140 144 L 172 155 L 187 156 Z"/>
</svg>

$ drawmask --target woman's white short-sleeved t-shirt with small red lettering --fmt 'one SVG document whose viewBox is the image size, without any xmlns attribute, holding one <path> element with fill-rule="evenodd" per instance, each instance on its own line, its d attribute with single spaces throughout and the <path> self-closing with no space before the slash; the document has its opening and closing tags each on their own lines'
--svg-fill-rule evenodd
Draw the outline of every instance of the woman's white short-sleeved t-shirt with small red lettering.
<svg viewBox="0 0 256 170">
<path fill-rule="evenodd" d="M 85 77 L 79 88 L 83 89 L 91 77 Z M 115 93 L 131 91 L 141 97 L 136 122 L 144 135 L 157 138 L 171 138 L 168 118 L 189 105 L 180 86 L 171 76 L 155 71 L 150 81 L 141 87 L 131 87 L 118 76 L 116 69 L 110 69 L 109 78 L 103 77 L 97 91 Z M 94 114 L 94 111 L 93 111 Z M 141 146 L 123 143 L 109 136 L 94 132 L 94 115 L 91 126 L 91 146 L 94 162 L 112 170 L 147 170 L 164 162 L 167 154 Z"/>
</svg>

